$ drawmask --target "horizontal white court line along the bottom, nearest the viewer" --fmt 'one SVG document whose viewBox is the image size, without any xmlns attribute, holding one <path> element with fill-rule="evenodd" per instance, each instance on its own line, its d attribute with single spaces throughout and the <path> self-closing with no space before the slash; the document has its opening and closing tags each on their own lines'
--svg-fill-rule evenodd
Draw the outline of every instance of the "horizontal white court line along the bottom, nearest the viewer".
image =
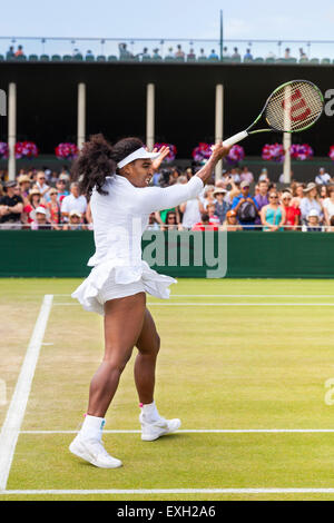
<svg viewBox="0 0 334 523">
<path fill-rule="evenodd" d="M 9 490 L 0 494 L 334 494 L 334 489 L 96 489 Z"/>
</svg>

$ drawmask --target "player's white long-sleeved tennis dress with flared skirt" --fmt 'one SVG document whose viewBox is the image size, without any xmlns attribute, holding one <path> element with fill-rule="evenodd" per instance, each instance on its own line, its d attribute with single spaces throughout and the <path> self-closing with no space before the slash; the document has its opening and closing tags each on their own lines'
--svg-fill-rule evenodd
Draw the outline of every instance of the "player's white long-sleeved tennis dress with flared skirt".
<svg viewBox="0 0 334 523">
<path fill-rule="evenodd" d="M 168 298 L 176 279 L 158 274 L 141 259 L 141 236 L 150 213 L 169 209 L 195 198 L 204 184 L 194 176 L 187 184 L 170 187 L 135 187 L 127 178 L 106 178 L 108 195 L 92 190 L 90 208 L 96 253 L 88 266 L 89 276 L 72 293 L 86 310 L 104 315 L 108 299 L 145 292 Z"/>
</svg>

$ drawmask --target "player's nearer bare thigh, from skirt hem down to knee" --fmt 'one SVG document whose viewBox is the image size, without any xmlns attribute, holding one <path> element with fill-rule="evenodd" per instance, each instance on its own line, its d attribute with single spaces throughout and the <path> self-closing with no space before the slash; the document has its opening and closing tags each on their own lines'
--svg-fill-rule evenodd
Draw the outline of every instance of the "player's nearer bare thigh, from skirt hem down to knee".
<svg viewBox="0 0 334 523">
<path fill-rule="evenodd" d="M 105 359 L 127 361 L 145 322 L 146 294 L 105 303 Z"/>
</svg>

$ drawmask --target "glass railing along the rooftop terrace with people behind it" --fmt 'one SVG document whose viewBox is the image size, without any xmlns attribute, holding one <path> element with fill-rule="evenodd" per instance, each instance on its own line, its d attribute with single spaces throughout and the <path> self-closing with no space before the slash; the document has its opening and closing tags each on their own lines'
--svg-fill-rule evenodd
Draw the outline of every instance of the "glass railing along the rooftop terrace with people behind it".
<svg viewBox="0 0 334 523">
<path fill-rule="evenodd" d="M 10 58 L 21 46 L 23 53 Z M 236 51 L 235 51 L 236 49 Z M 249 52 L 248 52 L 248 51 Z M 2 58 L 1 58 L 2 57 Z M 0 59 L 333 63 L 333 40 L 0 37 Z"/>
</svg>

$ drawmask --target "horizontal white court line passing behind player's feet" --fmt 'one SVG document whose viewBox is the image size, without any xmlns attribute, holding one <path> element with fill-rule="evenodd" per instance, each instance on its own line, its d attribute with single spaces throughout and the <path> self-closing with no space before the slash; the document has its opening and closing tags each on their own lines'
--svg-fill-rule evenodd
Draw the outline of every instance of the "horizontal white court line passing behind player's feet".
<svg viewBox="0 0 334 523">
<path fill-rule="evenodd" d="M 77 434 L 79 431 L 21 431 L 20 434 Z M 175 434 L 288 434 L 333 433 L 334 428 L 185 428 Z M 104 434 L 140 434 L 139 430 L 104 430 Z"/>
</svg>

